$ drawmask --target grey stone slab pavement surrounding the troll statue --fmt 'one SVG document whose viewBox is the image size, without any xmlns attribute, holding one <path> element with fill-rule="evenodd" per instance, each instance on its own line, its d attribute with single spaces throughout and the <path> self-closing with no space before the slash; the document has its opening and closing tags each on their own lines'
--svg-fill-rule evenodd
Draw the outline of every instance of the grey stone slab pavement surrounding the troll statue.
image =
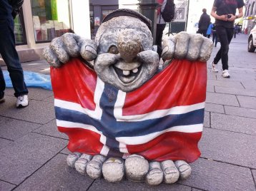
<svg viewBox="0 0 256 191">
<path fill-rule="evenodd" d="M 202 155 L 192 163 L 189 179 L 149 187 L 79 175 L 66 164 L 68 139 L 56 129 L 53 93 L 29 88 L 29 107 L 16 109 L 8 88 L 0 105 L 0 190 L 256 190 L 256 52 L 247 52 L 246 35 L 233 39 L 226 79 L 210 69 L 217 49 L 207 63 Z M 23 67 L 49 74 L 45 61 Z"/>
</svg>

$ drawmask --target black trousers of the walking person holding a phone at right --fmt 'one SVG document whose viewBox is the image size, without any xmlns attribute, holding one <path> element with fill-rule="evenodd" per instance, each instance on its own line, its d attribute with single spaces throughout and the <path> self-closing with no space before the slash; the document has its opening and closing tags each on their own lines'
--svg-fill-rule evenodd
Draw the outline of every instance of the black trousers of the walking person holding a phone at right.
<svg viewBox="0 0 256 191">
<path fill-rule="evenodd" d="M 224 26 L 216 26 L 216 32 L 220 39 L 220 50 L 217 52 L 213 62 L 217 64 L 222 59 L 223 71 L 228 70 L 228 51 L 230 41 L 232 40 L 234 29 L 225 28 Z"/>
</svg>

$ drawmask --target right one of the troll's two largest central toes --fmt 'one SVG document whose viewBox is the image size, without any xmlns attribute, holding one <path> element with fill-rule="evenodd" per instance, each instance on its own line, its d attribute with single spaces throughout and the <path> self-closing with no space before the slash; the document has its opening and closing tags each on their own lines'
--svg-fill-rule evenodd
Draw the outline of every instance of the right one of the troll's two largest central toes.
<svg viewBox="0 0 256 191">
<path fill-rule="evenodd" d="M 128 180 L 142 182 L 149 171 L 149 162 L 139 155 L 130 155 L 124 163 L 125 175 Z"/>
</svg>

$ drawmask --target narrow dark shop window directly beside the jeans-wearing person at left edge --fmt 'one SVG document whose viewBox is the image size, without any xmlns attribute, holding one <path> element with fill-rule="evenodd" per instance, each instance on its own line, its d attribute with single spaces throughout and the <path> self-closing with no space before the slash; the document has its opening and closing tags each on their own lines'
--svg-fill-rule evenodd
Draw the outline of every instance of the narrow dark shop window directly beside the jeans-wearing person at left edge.
<svg viewBox="0 0 256 191">
<path fill-rule="evenodd" d="M 24 19 L 22 9 L 14 19 L 14 35 L 16 45 L 26 44 L 26 33 L 24 28 Z"/>
</svg>

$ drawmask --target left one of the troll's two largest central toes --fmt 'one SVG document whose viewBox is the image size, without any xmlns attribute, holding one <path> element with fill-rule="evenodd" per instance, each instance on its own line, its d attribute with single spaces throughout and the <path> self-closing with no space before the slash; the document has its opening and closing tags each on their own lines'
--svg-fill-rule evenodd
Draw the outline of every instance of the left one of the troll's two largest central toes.
<svg viewBox="0 0 256 191">
<path fill-rule="evenodd" d="M 109 158 L 102 166 L 102 174 L 108 182 L 119 182 L 124 177 L 124 160 Z"/>
</svg>

